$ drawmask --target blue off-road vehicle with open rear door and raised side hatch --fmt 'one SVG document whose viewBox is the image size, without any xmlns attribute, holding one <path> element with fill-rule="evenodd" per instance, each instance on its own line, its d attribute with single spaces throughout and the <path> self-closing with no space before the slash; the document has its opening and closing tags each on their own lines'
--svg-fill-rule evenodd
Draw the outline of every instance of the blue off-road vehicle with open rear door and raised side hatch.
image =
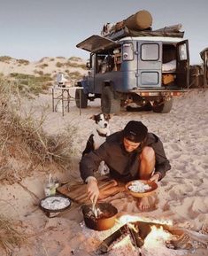
<svg viewBox="0 0 208 256">
<path fill-rule="evenodd" d="M 89 51 L 89 72 L 78 82 L 83 89 L 76 90 L 76 105 L 86 108 L 89 100 L 101 98 L 106 113 L 119 113 L 121 105 L 170 112 L 173 97 L 189 88 L 189 43 L 182 39 L 184 32 L 180 25 L 152 31 L 125 24 L 77 44 Z"/>
</svg>

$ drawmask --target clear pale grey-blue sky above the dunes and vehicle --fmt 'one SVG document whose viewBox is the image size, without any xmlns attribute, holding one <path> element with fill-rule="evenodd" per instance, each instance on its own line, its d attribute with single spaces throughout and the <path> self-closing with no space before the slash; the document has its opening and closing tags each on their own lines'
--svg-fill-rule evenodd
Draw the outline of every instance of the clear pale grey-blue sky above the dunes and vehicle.
<svg viewBox="0 0 208 256">
<path fill-rule="evenodd" d="M 43 57 L 89 58 L 76 48 L 116 23 L 147 10 L 152 29 L 182 24 L 190 64 L 200 64 L 208 47 L 208 0 L 0 0 L 0 56 L 38 61 Z"/>
</svg>

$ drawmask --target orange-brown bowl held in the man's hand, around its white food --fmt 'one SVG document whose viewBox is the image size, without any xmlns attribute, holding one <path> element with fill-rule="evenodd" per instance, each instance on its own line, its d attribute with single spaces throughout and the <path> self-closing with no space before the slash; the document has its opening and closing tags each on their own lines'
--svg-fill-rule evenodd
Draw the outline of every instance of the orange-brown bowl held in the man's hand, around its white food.
<svg viewBox="0 0 208 256">
<path fill-rule="evenodd" d="M 145 190 L 143 192 L 134 192 L 132 190 L 130 190 L 130 186 L 132 186 L 134 184 L 134 182 L 142 182 L 143 184 L 147 184 L 150 186 L 150 189 Z M 150 194 L 152 194 L 153 192 L 155 192 L 155 190 L 158 189 L 158 184 L 156 182 L 153 181 L 146 181 L 146 180 L 135 180 L 135 181 L 131 181 L 131 182 L 127 182 L 126 184 L 126 189 L 127 191 L 135 198 L 143 198 L 143 197 L 147 197 L 150 196 Z"/>
</svg>

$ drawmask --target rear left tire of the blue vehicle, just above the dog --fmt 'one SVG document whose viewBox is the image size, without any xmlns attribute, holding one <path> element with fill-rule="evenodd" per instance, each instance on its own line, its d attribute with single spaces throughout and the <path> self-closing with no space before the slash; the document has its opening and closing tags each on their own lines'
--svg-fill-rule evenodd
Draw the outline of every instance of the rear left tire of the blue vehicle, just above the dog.
<svg viewBox="0 0 208 256">
<path fill-rule="evenodd" d="M 104 113 L 118 114 L 120 111 L 120 99 L 114 97 L 110 86 L 105 86 L 101 95 L 101 110 Z"/>
</svg>

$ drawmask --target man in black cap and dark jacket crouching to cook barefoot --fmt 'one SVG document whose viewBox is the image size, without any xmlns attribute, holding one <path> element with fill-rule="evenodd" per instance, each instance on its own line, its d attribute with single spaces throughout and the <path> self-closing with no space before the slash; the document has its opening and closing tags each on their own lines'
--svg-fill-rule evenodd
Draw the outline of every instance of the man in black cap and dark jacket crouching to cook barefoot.
<svg viewBox="0 0 208 256">
<path fill-rule="evenodd" d="M 88 183 L 88 195 L 96 203 L 99 189 L 94 172 L 104 160 L 110 176 L 120 182 L 135 179 L 158 182 L 171 166 L 158 136 L 149 133 L 141 121 L 131 120 L 126 127 L 106 138 L 96 151 L 81 159 L 81 178 Z M 150 207 L 148 198 L 141 198 L 137 206 L 141 211 Z"/>
</svg>

